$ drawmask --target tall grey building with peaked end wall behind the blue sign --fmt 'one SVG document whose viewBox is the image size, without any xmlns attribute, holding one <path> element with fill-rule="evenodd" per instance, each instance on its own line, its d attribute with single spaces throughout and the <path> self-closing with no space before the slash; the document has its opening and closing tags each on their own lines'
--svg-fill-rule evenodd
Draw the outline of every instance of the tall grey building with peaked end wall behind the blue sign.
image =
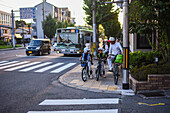
<svg viewBox="0 0 170 113">
<path fill-rule="evenodd" d="M 36 5 L 36 19 L 33 19 L 35 22 L 32 24 L 32 36 L 37 38 L 44 38 L 43 33 L 43 2 Z M 57 21 L 64 22 L 68 21 L 71 22 L 71 12 L 68 10 L 68 8 L 58 8 L 48 2 L 44 2 L 44 16 L 46 19 L 46 16 L 49 14 L 52 15 L 52 18 L 55 18 Z M 36 35 L 36 36 L 35 36 Z"/>
</svg>

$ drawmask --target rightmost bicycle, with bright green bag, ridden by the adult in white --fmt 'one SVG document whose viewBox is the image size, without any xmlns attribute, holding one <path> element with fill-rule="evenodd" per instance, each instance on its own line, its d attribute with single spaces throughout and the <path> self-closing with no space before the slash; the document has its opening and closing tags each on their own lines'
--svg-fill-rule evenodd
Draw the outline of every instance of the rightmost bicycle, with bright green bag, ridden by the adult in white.
<svg viewBox="0 0 170 113">
<path fill-rule="evenodd" d="M 111 55 L 111 56 L 115 56 L 112 63 L 114 63 L 114 68 L 113 68 L 114 83 L 117 85 L 118 79 L 119 79 L 119 76 L 120 76 L 119 66 L 121 65 L 121 63 L 119 63 L 120 62 L 119 60 L 122 60 L 122 59 L 121 58 L 117 59 L 118 55 Z"/>
</svg>

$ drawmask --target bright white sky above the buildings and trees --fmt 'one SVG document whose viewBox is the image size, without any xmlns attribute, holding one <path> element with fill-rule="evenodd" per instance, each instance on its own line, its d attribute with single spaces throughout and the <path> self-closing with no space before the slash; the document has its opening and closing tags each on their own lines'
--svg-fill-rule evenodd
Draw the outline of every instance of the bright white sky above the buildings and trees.
<svg viewBox="0 0 170 113">
<path fill-rule="evenodd" d="M 19 10 L 24 7 L 34 7 L 41 3 L 43 0 L 0 0 L 0 10 L 11 13 L 11 10 Z M 82 9 L 83 0 L 46 0 L 48 3 L 53 4 L 56 7 L 68 7 L 71 11 L 71 17 L 76 18 L 76 25 L 85 25 L 84 17 L 85 13 Z M 19 13 L 15 13 L 19 16 Z M 19 19 L 19 18 L 18 18 Z M 25 20 L 31 22 L 31 20 Z"/>
</svg>

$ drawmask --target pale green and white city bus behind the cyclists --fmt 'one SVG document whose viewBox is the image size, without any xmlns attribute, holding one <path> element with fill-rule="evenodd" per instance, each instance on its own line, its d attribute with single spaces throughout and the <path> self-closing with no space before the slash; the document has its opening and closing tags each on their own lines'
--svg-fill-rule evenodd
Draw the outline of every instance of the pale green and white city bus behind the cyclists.
<svg viewBox="0 0 170 113">
<path fill-rule="evenodd" d="M 82 54 L 87 40 L 92 44 L 93 31 L 82 27 L 67 27 L 56 30 L 57 54 Z"/>
</svg>

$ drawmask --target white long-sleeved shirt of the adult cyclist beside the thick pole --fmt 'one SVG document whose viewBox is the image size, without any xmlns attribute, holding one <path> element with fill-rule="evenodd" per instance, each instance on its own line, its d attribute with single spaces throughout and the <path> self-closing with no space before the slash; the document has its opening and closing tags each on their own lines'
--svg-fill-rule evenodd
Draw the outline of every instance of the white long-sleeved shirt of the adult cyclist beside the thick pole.
<svg viewBox="0 0 170 113">
<path fill-rule="evenodd" d="M 115 42 L 115 44 L 110 44 L 109 54 L 117 55 L 117 54 L 123 54 L 123 49 L 120 43 Z"/>
</svg>

